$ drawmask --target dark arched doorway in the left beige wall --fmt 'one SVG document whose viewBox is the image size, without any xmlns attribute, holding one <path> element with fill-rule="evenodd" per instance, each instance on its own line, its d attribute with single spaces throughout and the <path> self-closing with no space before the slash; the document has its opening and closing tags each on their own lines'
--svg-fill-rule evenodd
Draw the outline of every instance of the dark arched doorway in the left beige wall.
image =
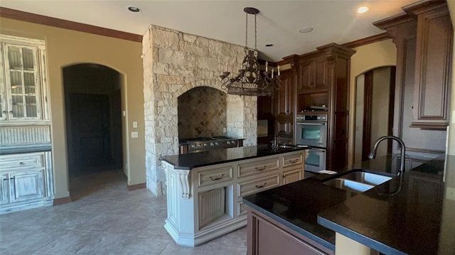
<svg viewBox="0 0 455 255">
<path fill-rule="evenodd" d="M 87 175 L 122 171 L 121 74 L 92 63 L 63 68 L 68 172 L 72 198 Z M 87 190 L 84 185 L 83 190 Z"/>
</svg>

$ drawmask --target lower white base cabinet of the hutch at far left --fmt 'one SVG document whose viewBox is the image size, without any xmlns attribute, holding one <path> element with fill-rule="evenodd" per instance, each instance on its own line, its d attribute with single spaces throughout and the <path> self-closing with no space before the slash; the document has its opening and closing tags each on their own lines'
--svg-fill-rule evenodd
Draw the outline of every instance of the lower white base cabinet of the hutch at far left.
<svg viewBox="0 0 455 255">
<path fill-rule="evenodd" d="M 0 213 L 53 204 L 50 152 L 0 156 Z"/>
</svg>

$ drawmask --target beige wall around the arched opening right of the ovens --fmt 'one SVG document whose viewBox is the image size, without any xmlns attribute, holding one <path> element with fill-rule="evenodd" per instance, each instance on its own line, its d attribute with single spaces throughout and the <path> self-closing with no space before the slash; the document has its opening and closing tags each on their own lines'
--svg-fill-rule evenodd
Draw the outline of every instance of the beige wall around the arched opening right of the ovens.
<svg viewBox="0 0 455 255">
<path fill-rule="evenodd" d="M 348 165 L 353 163 L 354 158 L 354 135 L 355 135 L 355 80 L 363 72 L 375 67 L 396 65 L 397 48 L 392 39 L 381 40 L 377 43 L 363 45 L 353 50 L 356 53 L 350 58 L 350 107 L 349 107 L 349 136 L 348 136 Z"/>
</svg>

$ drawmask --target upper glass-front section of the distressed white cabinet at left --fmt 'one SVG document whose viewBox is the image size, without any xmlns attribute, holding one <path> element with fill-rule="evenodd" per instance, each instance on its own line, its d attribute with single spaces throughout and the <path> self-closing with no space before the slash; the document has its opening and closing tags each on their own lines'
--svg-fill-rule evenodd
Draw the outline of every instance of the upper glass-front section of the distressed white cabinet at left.
<svg viewBox="0 0 455 255">
<path fill-rule="evenodd" d="M 0 36 L 0 121 L 42 121 L 46 99 L 44 42 Z"/>
</svg>

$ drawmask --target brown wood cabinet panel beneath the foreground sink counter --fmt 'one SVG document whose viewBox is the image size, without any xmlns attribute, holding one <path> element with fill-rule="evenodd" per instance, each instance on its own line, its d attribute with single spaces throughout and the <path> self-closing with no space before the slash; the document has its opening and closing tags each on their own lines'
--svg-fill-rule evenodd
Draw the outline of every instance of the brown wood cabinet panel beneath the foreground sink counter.
<svg viewBox="0 0 455 255">
<path fill-rule="evenodd" d="M 248 207 L 247 240 L 247 255 L 334 254 L 330 249 L 250 207 Z"/>
</svg>

